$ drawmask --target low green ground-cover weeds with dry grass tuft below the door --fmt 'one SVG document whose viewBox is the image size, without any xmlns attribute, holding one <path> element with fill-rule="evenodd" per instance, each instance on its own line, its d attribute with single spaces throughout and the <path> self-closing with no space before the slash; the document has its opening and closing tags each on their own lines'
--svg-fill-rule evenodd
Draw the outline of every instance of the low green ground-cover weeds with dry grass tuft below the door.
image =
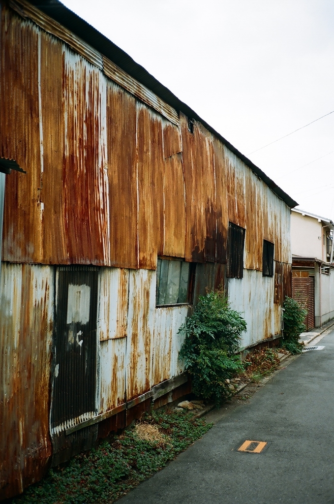
<svg viewBox="0 0 334 504">
<path fill-rule="evenodd" d="M 50 469 L 43 480 L 12 499 L 12 504 L 103 504 L 136 486 L 196 439 L 212 424 L 192 412 L 154 411 L 144 424 L 125 430 L 112 443 Z"/>
</svg>

